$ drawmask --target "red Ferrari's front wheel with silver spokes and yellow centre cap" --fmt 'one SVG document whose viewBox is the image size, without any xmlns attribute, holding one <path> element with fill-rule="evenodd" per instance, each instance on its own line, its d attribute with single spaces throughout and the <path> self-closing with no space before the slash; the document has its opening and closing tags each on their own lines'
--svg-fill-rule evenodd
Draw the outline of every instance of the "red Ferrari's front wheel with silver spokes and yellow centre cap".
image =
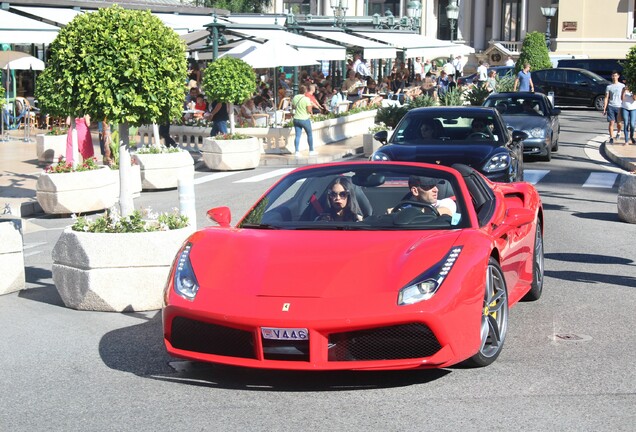
<svg viewBox="0 0 636 432">
<path fill-rule="evenodd" d="M 508 331 L 508 290 L 501 267 L 490 257 L 486 269 L 486 289 L 480 321 L 481 342 L 477 353 L 464 363 L 468 367 L 492 364 L 503 349 Z"/>
</svg>

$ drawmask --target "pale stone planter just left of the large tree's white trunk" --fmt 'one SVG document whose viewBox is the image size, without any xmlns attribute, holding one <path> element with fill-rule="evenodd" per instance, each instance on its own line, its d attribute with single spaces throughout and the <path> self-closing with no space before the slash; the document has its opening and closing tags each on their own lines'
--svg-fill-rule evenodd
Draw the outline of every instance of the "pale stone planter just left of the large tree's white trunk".
<svg viewBox="0 0 636 432">
<path fill-rule="evenodd" d="M 42 173 L 36 199 L 49 214 L 87 213 L 112 207 L 119 195 L 115 176 L 104 166 L 91 171 Z"/>
</svg>

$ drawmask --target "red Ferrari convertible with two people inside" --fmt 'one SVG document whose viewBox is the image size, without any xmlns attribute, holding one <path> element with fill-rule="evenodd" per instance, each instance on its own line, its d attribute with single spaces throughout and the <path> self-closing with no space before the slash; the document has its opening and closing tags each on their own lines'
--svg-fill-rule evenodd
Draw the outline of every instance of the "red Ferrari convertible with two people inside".
<svg viewBox="0 0 636 432">
<path fill-rule="evenodd" d="M 234 227 L 194 233 L 165 290 L 176 357 L 296 370 L 486 366 L 508 310 L 543 287 L 543 208 L 528 183 L 465 165 L 299 168 Z"/>
</svg>

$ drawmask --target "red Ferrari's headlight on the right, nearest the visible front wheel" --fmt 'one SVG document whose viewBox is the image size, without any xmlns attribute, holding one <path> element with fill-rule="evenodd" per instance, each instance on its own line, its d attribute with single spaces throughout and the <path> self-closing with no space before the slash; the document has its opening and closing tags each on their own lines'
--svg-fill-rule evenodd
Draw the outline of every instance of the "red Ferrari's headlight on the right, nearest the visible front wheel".
<svg viewBox="0 0 636 432">
<path fill-rule="evenodd" d="M 435 295 L 451 271 L 462 246 L 456 246 L 440 262 L 419 275 L 398 293 L 398 305 L 410 305 L 428 300 Z"/>
</svg>

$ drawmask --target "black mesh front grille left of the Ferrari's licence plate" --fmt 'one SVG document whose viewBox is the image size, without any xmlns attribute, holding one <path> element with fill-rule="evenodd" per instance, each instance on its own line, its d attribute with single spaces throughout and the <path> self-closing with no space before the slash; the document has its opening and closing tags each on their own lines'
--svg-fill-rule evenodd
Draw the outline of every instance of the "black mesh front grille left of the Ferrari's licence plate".
<svg viewBox="0 0 636 432">
<path fill-rule="evenodd" d="M 170 343 L 173 347 L 186 351 L 256 358 L 252 332 L 183 317 L 172 320 Z"/>
</svg>

